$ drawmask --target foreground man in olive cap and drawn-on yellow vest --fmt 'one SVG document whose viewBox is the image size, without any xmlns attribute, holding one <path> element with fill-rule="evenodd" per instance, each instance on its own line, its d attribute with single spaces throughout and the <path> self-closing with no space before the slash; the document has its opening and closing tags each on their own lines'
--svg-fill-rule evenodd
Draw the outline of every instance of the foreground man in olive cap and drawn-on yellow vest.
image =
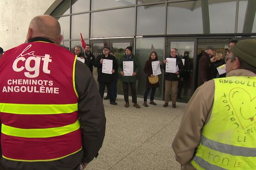
<svg viewBox="0 0 256 170">
<path fill-rule="evenodd" d="M 172 143 L 182 170 L 255 169 L 256 40 L 225 57 L 227 76 L 197 88 Z"/>
</svg>

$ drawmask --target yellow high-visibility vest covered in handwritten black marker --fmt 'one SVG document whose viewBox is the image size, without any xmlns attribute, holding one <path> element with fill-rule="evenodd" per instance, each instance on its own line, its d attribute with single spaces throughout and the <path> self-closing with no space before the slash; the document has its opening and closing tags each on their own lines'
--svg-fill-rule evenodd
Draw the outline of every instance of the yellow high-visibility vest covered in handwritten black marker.
<svg viewBox="0 0 256 170">
<path fill-rule="evenodd" d="M 255 170 L 256 77 L 214 81 L 212 113 L 191 164 L 197 170 Z"/>
</svg>

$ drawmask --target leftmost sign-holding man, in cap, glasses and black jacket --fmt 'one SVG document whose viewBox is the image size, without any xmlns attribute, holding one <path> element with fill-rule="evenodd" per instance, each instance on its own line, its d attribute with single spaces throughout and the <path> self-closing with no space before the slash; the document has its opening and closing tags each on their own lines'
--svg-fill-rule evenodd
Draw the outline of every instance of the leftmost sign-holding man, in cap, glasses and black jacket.
<svg viewBox="0 0 256 170">
<path fill-rule="evenodd" d="M 117 105 L 113 97 L 113 81 L 115 78 L 115 73 L 117 71 L 117 62 L 114 56 L 109 55 L 109 48 L 103 48 L 103 54 L 97 56 L 94 63 L 94 67 L 98 69 L 98 82 L 99 82 L 99 94 L 103 99 L 104 91 L 107 86 L 110 104 Z M 109 61 L 112 60 L 112 61 Z M 112 64 L 112 65 L 111 65 Z M 112 67 L 112 68 L 111 68 Z"/>
</svg>

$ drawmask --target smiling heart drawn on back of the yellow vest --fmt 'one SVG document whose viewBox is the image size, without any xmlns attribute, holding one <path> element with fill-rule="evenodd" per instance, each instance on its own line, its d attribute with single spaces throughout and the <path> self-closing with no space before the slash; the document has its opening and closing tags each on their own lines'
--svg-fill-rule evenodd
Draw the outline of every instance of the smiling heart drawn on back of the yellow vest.
<svg viewBox="0 0 256 170">
<path fill-rule="evenodd" d="M 249 94 L 243 88 L 233 88 L 230 91 L 229 99 L 243 129 L 256 123 L 255 94 Z"/>
</svg>

